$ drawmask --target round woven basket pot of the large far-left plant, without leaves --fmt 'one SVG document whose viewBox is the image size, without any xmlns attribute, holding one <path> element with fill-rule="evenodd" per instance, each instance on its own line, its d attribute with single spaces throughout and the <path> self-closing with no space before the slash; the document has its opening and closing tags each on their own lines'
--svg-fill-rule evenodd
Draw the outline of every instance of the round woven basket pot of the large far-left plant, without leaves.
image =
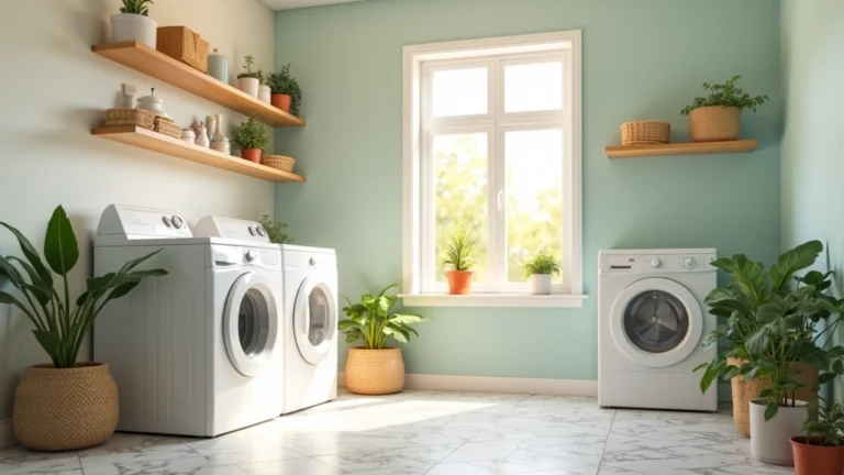
<svg viewBox="0 0 844 475">
<path fill-rule="evenodd" d="M 14 391 L 14 435 L 41 451 L 71 451 L 108 440 L 118 427 L 118 385 L 109 366 L 30 366 Z"/>
</svg>

